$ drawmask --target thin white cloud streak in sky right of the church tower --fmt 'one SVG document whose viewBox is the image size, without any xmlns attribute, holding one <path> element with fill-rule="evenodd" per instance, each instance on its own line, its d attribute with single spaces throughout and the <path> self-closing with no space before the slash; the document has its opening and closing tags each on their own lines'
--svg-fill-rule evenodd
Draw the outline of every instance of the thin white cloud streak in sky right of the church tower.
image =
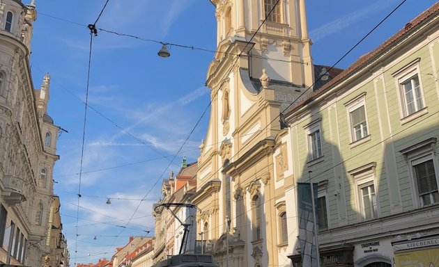
<svg viewBox="0 0 439 267">
<path fill-rule="evenodd" d="M 348 26 L 360 22 L 362 19 L 369 17 L 371 14 L 387 8 L 387 6 L 390 6 L 390 4 L 392 4 L 392 1 L 379 1 L 374 5 L 356 10 L 351 14 L 340 17 L 339 19 L 335 19 L 332 22 L 325 23 L 322 26 L 319 26 L 317 29 L 310 31 L 309 37 L 313 42 L 317 42 L 318 40 L 328 37 L 334 33 L 343 31 L 344 29 L 348 28 Z"/>
</svg>

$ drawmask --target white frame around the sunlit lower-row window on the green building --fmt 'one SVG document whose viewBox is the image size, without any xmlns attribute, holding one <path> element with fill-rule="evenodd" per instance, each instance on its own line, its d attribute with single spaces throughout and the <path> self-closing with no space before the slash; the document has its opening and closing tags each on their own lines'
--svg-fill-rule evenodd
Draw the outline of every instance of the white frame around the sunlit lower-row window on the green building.
<svg viewBox="0 0 439 267">
<path fill-rule="evenodd" d="M 372 162 L 367 165 L 363 165 L 360 168 L 351 170 L 349 174 L 355 183 L 355 206 L 358 213 L 358 219 L 361 222 L 367 220 L 375 220 L 380 218 L 380 197 L 378 195 L 377 181 L 376 181 L 376 163 Z M 373 185 L 373 191 L 375 191 L 376 210 L 371 214 L 371 218 L 366 218 L 364 211 L 364 202 L 362 195 L 362 188 Z M 373 210 L 373 205 L 371 206 Z"/>
</svg>

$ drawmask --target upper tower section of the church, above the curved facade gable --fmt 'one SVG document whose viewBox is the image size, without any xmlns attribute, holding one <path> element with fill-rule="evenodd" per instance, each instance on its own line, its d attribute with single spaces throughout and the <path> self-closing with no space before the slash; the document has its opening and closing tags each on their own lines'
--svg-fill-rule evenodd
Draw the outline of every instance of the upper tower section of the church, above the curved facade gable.
<svg viewBox="0 0 439 267">
<path fill-rule="evenodd" d="M 259 78 L 265 69 L 272 80 L 306 88 L 312 85 L 305 0 L 212 0 L 212 3 L 217 18 L 216 60 L 227 56 L 230 48 L 227 40 L 250 42 L 241 55 L 249 61 L 250 77 Z"/>
</svg>

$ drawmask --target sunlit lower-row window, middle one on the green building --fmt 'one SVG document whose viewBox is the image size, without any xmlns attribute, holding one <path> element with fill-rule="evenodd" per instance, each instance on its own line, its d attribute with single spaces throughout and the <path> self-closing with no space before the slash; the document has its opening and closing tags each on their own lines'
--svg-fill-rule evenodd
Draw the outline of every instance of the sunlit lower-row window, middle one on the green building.
<svg viewBox="0 0 439 267">
<path fill-rule="evenodd" d="M 375 169 L 376 163 L 373 162 L 349 172 L 355 181 L 357 211 L 362 221 L 372 220 L 379 216 Z"/>
</svg>

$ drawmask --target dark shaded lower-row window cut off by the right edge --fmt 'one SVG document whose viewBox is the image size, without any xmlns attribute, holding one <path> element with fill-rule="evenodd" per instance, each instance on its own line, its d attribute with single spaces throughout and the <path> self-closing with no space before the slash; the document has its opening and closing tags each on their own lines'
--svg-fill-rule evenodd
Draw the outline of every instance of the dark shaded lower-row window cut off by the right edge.
<svg viewBox="0 0 439 267">
<path fill-rule="evenodd" d="M 439 167 L 435 149 L 436 138 L 429 138 L 400 151 L 408 163 L 409 175 L 412 177 L 410 180 L 415 207 L 439 203 Z"/>
</svg>

